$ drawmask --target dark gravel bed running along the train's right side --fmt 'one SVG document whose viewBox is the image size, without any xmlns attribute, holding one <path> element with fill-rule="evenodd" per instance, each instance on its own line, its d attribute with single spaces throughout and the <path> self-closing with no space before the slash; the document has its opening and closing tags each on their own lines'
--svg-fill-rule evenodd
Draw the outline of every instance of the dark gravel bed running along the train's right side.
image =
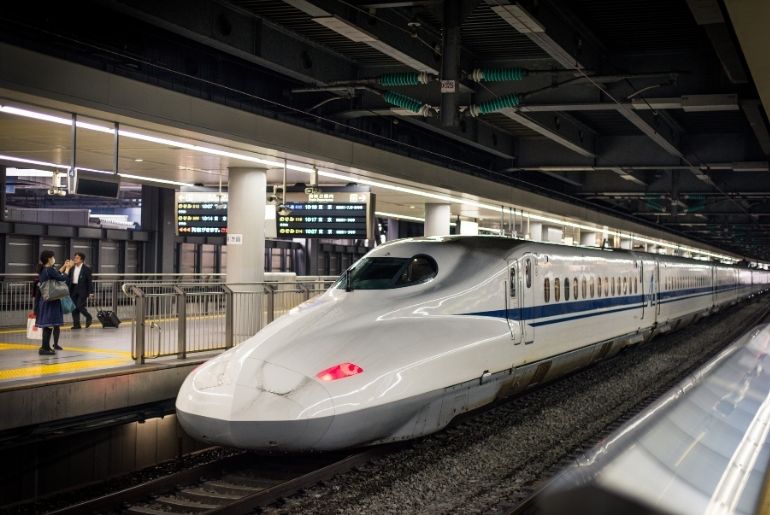
<svg viewBox="0 0 770 515">
<path fill-rule="evenodd" d="M 589 367 L 425 437 L 266 513 L 505 510 L 596 444 L 652 392 L 673 387 L 767 307 L 762 298 Z M 748 327 L 746 327 L 748 330 Z"/>
</svg>

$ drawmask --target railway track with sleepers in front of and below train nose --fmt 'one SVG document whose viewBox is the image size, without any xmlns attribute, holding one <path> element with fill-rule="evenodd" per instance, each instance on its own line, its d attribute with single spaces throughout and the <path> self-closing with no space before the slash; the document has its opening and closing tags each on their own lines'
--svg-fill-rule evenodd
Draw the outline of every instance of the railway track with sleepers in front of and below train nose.
<svg viewBox="0 0 770 515">
<path fill-rule="evenodd" d="M 63 508 L 52 514 L 249 513 L 376 457 L 354 454 L 260 456 L 243 452 Z"/>
</svg>

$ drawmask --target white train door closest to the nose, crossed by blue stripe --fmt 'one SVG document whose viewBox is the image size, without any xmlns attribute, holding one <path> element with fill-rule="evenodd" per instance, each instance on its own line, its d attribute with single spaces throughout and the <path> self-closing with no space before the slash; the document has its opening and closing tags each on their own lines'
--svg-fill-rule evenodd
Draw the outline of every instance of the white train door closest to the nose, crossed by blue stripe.
<svg viewBox="0 0 770 515">
<path fill-rule="evenodd" d="M 509 293 L 512 292 L 511 285 L 516 287 L 515 298 L 511 297 L 509 302 L 515 309 L 508 310 L 508 324 L 511 327 L 511 337 L 515 343 L 532 343 L 535 341 L 535 328 L 528 321 L 533 318 L 535 307 L 535 268 L 537 258 L 533 254 L 524 254 L 518 260 L 508 262 L 509 271 Z M 515 281 L 511 279 L 515 275 Z M 518 334 L 513 334 L 517 332 Z"/>
</svg>

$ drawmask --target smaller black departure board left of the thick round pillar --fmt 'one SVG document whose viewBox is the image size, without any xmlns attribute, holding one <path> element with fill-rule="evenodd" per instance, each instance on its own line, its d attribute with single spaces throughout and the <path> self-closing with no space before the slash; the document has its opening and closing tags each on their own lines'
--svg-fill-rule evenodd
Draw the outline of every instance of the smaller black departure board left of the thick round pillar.
<svg viewBox="0 0 770 515">
<path fill-rule="evenodd" d="M 227 234 L 227 194 L 178 192 L 176 231 L 177 234 L 191 236 Z"/>
</svg>

